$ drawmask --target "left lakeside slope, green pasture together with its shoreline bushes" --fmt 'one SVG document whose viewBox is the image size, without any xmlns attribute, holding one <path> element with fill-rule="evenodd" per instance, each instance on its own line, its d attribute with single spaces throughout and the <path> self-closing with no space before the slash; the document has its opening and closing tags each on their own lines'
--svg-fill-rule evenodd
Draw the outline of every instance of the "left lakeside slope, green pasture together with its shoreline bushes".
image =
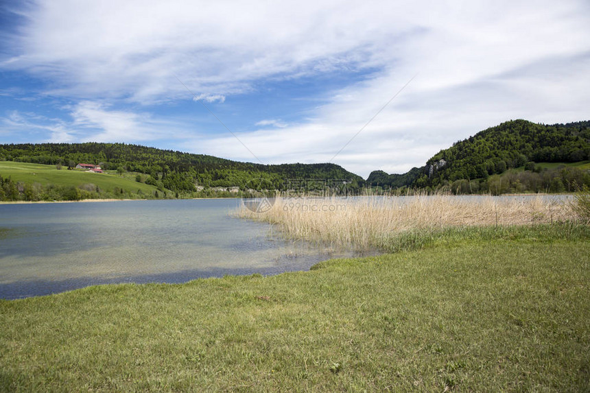
<svg viewBox="0 0 590 393">
<path fill-rule="evenodd" d="M 0 161 L 0 178 L 3 178 L 0 181 L 3 186 L 0 187 L 0 200 L 23 200 L 22 196 L 26 196 L 23 194 L 28 194 L 26 200 L 71 200 L 154 198 L 158 193 L 158 188 L 153 185 L 136 182 L 116 173 L 94 174 L 67 170 L 66 167 L 57 169 L 56 165 Z M 11 188 L 16 191 L 16 195 L 12 195 Z M 160 193 L 157 195 L 160 196 Z"/>
</svg>

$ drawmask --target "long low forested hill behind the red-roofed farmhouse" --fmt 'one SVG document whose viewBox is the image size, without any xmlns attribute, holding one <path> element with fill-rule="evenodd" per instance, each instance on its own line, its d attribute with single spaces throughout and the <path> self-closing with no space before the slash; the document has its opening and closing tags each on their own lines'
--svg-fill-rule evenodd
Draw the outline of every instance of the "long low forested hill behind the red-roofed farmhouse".
<svg viewBox="0 0 590 393">
<path fill-rule="evenodd" d="M 358 189 L 364 180 L 335 164 L 262 165 L 241 163 L 203 154 L 189 154 L 126 143 L 40 143 L 0 145 L 0 160 L 64 165 L 101 165 L 106 170 L 147 174 L 145 182 L 161 184 L 172 191 L 194 191 L 204 187 L 248 188 L 263 178 L 276 189 L 285 181 L 301 178 L 346 180 Z"/>
</svg>

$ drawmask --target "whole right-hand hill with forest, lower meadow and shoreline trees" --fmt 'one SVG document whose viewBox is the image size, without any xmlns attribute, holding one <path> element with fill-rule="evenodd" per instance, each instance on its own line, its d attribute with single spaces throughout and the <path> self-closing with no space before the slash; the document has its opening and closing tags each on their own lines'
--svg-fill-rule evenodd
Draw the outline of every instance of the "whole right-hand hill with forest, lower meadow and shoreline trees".
<svg viewBox="0 0 590 393">
<path fill-rule="evenodd" d="M 510 191 L 574 191 L 590 187 L 590 121 L 567 124 L 536 124 L 526 120 L 506 121 L 441 150 L 426 165 L 403 175 L 373 171 L 367 183 L 381 187 L 448 188 L 489 192 L 506 178 Z M 521 168 L 519 184 L 511 178 Z M 499 176 L 499 178 L 498 178 Z M 476 180 L 475 183 L 472 183 Z"/>
</svg>

